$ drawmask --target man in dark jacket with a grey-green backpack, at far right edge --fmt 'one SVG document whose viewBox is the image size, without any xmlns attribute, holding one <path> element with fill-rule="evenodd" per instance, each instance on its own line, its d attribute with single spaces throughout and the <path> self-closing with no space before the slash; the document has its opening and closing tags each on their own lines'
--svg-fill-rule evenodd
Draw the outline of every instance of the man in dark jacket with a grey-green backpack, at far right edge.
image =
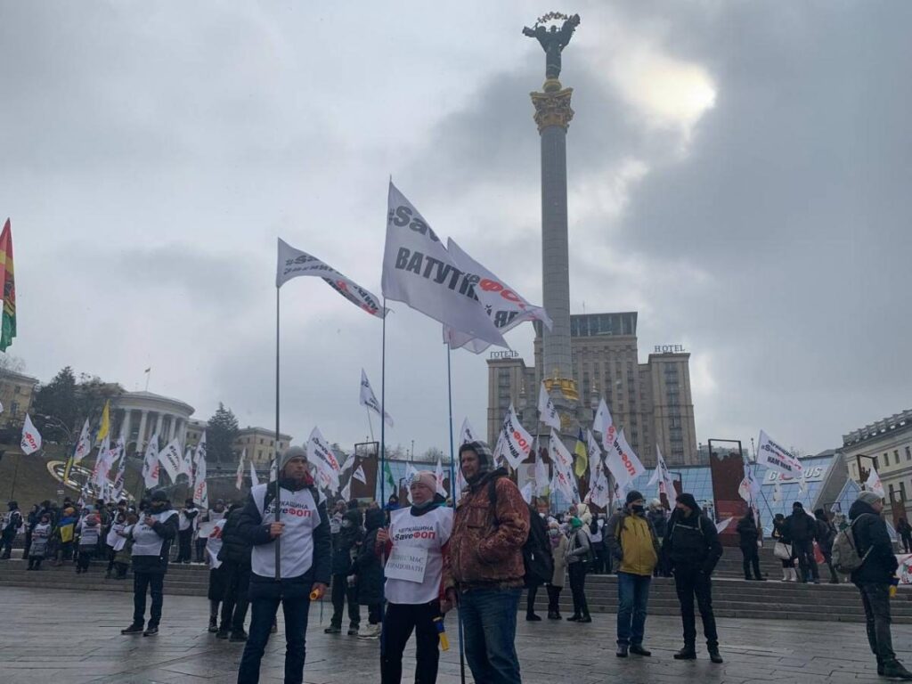
<svg viewBox="0 0 912 684">
<path fill-rule="evenodd" d="M 892 679 L 912 679 L 896 660 L 890 635 L 890 584 L 896 568 L 893 543 L 880 517 L 883 500 L 874 492 L 862 492 L 849 509 L 855 549 L 864 559 L 852 573 L 852 583 L 861 592 L 867 622 L 867 642 L 877 658 L 877 674 Z"/>
</svg>

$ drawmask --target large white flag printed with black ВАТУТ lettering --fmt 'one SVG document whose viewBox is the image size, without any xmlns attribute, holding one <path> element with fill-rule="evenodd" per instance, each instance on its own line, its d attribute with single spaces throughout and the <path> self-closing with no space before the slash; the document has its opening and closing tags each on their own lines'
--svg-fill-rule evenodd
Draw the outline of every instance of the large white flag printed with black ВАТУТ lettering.
<svg viewBox="0 0 912 684">
<path fill-rule="evenodd" d="M 478 301 L 478 281 L 455 263 L 418 210 L 390 182 L 383 295 L 457 332 L 507 347 Z"/>
</svg>

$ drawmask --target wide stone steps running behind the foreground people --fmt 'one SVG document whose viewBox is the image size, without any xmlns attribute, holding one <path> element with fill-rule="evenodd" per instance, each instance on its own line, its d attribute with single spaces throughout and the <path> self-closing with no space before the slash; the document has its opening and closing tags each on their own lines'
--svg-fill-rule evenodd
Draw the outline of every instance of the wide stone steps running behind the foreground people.
<svg viewBox="0 0 912 684">
<path fill-rule="evenodd" d="M 762 550 L 762 570 L 773 581 L 745 582 L 741 578 L 741 552 L 725 550 L 719 571 L 713 575 L 713 606 L 718 617 L 747 619 L 826 620 L 862 622 L 865 613 L 855 586 L 801 585 L 783 583 L 782 565 L 772 557 L 772 551 Z M 15 554 L 16 556 L 19 554 Z M 77 575 L 71 564 L 55 567 L 43 565 L 39 572 L 26 571 L 21 560 L 0 562 L 0 602 L 4 586 L 28 586 L 39 589 L 65 589 L 87 591 L 130 592 L 131 575 L 124 580 L 106 580 L 107 564 L 95 562 L 86 575 Z M 825 574 L 825 571 L 824 571 Z M 825 580 L 824 580 L 825 581 Z M 209 583 L 209 569 L 205 565 L 174 565 L 168 569 L 165 591 L 170 596 L 205 596 Z M 615 575 L 589 575 L 586 578 L 586 598 L 594 614 L 617 612 L 617 577 Z M 523 596 L 523 608 L 525 597 Z M 538 612 L 546 613 L 547 595 L 544 587 L 536 601 Z M 569 583 L 561 595 L 561 610 L 565 616 L 571 612 L 572 601 Z M 912 588 L 900 587 L 891 601 L 893 621 L 912 624 Z M 653 616 L 679 616 L 678 598 L 674 581 L 659 577 L 653 580 L 649 596 L 649 613 Z"/>
</svg>

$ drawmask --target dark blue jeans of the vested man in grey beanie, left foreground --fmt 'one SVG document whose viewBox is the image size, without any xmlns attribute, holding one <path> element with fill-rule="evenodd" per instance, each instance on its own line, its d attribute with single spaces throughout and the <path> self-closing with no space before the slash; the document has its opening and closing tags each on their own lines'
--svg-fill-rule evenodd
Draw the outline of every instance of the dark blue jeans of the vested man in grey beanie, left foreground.
<svg viewBox="0 0 912 684">
<path fill-rule="evenodd" d="M 244 645 L 241 667 L 237 673 L 237 684 L 257 684 L 260 680 L 260 661 L 269 632 L 275 621 L 279 604 L 285 613 L 285 684 L 301 684 L 304 680 L 305 634 L 307 611 L 310 597 L 300 598 L 267 597 L 254 598 L 250 602 L 250 634 Z"/>
</svg>

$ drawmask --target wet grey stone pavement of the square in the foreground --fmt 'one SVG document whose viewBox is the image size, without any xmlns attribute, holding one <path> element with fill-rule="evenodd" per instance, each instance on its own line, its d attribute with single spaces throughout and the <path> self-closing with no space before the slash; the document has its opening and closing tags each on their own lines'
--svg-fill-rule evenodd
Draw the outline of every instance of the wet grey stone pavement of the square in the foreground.
<svg viewBox="0 0 912 684">
<path fill-rule="evenodd" d="M 166 588 L 167 591 L 167 588 Z M 378 642 L 323 634 L 319 607 L 311 611 L 305 681 L 309 684 L 368 684 L 379 681 Z M 165 596 L 158 637 L 122 637 L 132 615 L 130 594 L 70 592 L 0 587 L 0 681 L 32 682 L 233 682 L 243 645 L 218 640 L 205 630 L 207 602 Z M 281 616 L 281 611 L 280 611 Z M 440 660 L 440 684 L 460 681 L 455 621 L 448 622 L 451 650 Z M 521 618 L 523 616 L 521 615 Z M 864 626 L 789 620 L 719 620 L 724 665 L 712 665 L 706 649 L 700 659 L 676 662 L 678 618 L 651 615 L 647 646 L 652 658 L 614 655 L 614 616 L 596 616 L 591 625 L 521 619 L 517 648 L 526 684 L 595 682 L 858 682 L 879 681 L 867 650 Z M 700 626 L 698 625 L 698 629 Z M 898 656 L 912 663 L 912 626 L 894 627 Z M 282 681 L 285 643 L 279 634 L 267 648 L 261 681 Z M 403 681 L 413 679 L 409 645 Z M 472 681 L 467 669 L 467 681 Z"/>
</svg>

